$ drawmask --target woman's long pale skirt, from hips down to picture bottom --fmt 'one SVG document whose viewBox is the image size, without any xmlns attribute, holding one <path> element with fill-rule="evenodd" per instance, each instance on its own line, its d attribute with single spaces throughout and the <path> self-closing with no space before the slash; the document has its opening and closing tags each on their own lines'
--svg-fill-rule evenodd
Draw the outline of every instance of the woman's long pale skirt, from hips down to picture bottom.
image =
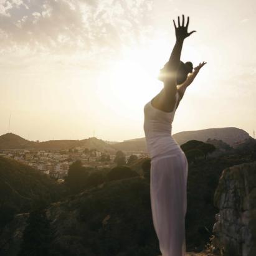
<svg viewBox="0 0 256 256">
<path fill-rule="evenodd" d="M 183 151 L 151 160 L 151 211 L 163 256 L 185 256 L 186 253 L 187 171 Z"/>
</svg>

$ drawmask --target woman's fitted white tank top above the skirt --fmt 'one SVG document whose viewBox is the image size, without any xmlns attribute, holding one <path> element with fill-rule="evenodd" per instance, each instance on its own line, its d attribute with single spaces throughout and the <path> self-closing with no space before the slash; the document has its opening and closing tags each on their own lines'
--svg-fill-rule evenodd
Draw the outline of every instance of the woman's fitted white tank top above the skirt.
<svg viewBox="0 0 256 256">
<path fill-rule="evenodd" d="M 144 131 L 146 146 L 151 160 L 163 154 L 183 153 L 173 136 L 171 128 L 174 114 L 179 100 L 179 93 L 176 93 L 176 103 L 173 111 L 166 112 L 154 108 L 150 100 L 144 106 Z"/>
</svg>

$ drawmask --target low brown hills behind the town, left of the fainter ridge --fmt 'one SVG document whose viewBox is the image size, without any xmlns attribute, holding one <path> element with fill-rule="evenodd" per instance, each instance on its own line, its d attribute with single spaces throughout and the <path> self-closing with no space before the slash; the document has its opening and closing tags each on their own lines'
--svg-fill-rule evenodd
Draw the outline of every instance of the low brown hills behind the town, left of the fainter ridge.
<svg viewBox="0 0 256 256">
<path fill-rule="evenodd" d="M 95 137 L 85 140 L 49 140 L 35 142 L 25 140 L 13 133 L 0 136 L 0 149 L 26 148 L 26 149 L 69 149 L 75 147 L 95 148 L 97 150 L 115 151 L 115 149 L 103 140 Z"/>
</svg>

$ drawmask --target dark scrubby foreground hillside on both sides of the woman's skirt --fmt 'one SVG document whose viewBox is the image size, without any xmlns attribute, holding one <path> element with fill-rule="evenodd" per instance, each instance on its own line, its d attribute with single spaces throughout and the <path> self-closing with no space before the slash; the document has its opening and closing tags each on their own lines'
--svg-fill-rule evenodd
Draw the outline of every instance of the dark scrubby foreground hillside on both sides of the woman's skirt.
<svg viewBox="0 0 256 256">
<path fill-rule="evenodd" d="M 250 163 L 255 157 L 232 153 L 189 164 L 187 251 L 201 252 L 209 241 L 218 211 L 213 205 L 214 191 L 222 170 Z M 130 167 L 141 173 L 142 163 L 138 159 Z M 149 169 L 150 166 L 145 170 L 148 174 Z M 7 241 L 4 255 L 17 255 L 19 250 L 21 255 L 35 250 L 55 256 L 159 255 L 149 185 L 149 176 L 104 182 L 45 209 L 19 214 L 0 235 L 0 245 Z M 17 232 L 21 234 L 19 238 L 12 239 Z M 35 232 L 38 235 L 35 236 Z M 21 240 L 22 234 L 24 240 Z"/>
</svg>

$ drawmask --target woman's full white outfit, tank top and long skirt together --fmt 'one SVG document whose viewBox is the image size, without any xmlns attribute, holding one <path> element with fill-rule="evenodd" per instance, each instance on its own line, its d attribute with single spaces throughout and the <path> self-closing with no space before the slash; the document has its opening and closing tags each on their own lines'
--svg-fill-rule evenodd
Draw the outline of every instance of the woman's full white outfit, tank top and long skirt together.
<svg viewBox="0 0 256 256">
<path fill-rule="evenodd" d="M 163 256 L 185 256 L 185 216 L 187 210 L 187 159 L 171 136 L 172 112 L 144 107 L 144 130 L 151 157 L 150 196 L 154 230 Z"/>
</svg>

